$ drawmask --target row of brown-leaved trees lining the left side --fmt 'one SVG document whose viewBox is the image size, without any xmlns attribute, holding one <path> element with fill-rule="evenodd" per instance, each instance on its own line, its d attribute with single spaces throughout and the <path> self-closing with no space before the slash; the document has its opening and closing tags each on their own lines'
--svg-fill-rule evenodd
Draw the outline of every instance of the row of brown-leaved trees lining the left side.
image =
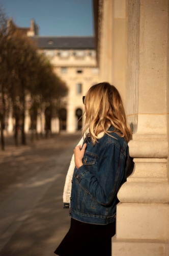
<svg viewBox="0 0 169 256">
<path fill-rule="evenodd" d="M 5 147 L 4 127 L 9 113 L 15 118 L 15 144 L 17 145 L 19 123 L 22 144 L 26 143 L 24 132 L 25 111 L 30 110 L 31 121 L 38 111 L 48 107 L 59 111 L 62 97 L 66 96 L 65 83 L 55 75 L 45 56 L 40 55 L 31 39 L 23 35 L 0 8 L 0 122 L 1 145 Z M 55 113 L 57 115 L 57 113 Z"/>
</svg>

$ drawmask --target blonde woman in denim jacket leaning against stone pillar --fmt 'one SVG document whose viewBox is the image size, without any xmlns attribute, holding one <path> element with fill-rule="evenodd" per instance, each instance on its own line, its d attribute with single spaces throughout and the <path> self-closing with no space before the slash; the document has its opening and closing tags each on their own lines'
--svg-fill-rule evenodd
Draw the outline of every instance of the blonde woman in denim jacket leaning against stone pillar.
<svg viewBox="0 0 169 256">
<path fill-rule="evenodd" d="M 71 226 L 54 253 L 110 256 L 131 130 L 121 96 L 109 83 L 92 86 L 83 103 L 84 140 L 74 149 L 64 188 L 64 208 L 70 208 Z"/>
</svg>

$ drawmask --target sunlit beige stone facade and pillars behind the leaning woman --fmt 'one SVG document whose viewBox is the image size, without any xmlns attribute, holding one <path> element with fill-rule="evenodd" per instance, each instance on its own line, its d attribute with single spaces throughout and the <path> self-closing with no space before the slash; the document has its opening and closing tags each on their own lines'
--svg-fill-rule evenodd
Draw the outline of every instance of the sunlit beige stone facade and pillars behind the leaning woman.
<svg viewBox="0 0 169 256">
<path fill-rule="evenodd" d="M 167 0 L 93 0 L 99 80 L 125 101 L 133 174 L 118 193 L 113 256 L 169 255 Z"/>
</svg>

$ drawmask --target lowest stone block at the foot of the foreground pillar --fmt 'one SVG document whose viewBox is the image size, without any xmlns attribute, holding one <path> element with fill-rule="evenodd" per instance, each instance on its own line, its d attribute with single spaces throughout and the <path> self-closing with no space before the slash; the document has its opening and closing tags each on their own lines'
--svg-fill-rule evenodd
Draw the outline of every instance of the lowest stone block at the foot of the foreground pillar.
<svg viewBox="0 0 169 256">
<path fill-rule="evenodd" d="M 112 238 L 112 256 L 168 256 L 169 240 Z"/>
</svg>

